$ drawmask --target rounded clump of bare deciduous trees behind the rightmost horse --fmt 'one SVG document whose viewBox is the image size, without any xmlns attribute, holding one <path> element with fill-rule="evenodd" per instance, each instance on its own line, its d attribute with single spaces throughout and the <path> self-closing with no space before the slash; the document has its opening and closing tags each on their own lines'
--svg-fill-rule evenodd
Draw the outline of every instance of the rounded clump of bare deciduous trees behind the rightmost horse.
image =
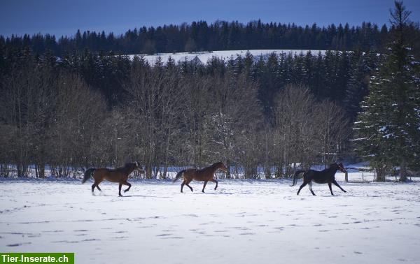
<svg viewBox="0 0 420 264">
<path fill-rule="evenodd" d="M 291 175 L 296 163 L 305 168 L 331 163 L 349 136 L 341 108 L 330 101 L 316 101 L 302 85 L 288 85 L 279 93 L 274 117 L 278 177 Z"/>
</svg>

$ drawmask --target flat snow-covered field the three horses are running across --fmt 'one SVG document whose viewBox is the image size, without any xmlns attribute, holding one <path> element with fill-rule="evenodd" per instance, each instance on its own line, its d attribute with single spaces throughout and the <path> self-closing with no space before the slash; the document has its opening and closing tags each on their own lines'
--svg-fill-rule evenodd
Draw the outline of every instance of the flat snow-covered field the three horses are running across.
<svg viewBox="0 0 420 264">
<path fill-rule="evenodd" d="M 76 263 L 420 263 L 420 182 L 192 184 L 0 182 L 0 251 L 75 252 Z M 354 178 L 350 174 L 350 179 Z"/>
</svg>

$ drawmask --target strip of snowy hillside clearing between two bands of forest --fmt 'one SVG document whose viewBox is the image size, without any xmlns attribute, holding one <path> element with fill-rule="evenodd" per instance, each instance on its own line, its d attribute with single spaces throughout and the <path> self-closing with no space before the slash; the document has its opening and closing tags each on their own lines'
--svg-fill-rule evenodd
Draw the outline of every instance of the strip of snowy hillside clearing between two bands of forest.
<svg viewBox="0 0 420 264">
<path fill-rule="evenodd" d="M 307 52 L 311 52 L 311 54 L 318 54 L 318 52 L 321 52 L 321 54 L 325 54 L 325 50 L 215 50 L 212 52 L 179 52 L 179 53 L 160 53 L 160 54 L 132 54 L 128 55 L 130 59 L 133 59 L 134 56 L 143 56 L 146 61 L 148 61 L 149 64 L 154 64 L 155 61 L 160 57 L 162 59 L 162 62 L 167 62 L 169 57 L 174 59 L 174 61 L 192 61 L 196 56 L 203 64 L 207 64 L 207 61 L 209 61 L 213 57 L 218 57 L 219 59 L 230 59 L 231 57 L 233 59 L 236 59 L 237 57 L 245 57 L 246 52 L 249 52 L 253 55 L 253 57 L 265 57 L 269 54 L 276 53 L 279 54 L 307 54 Z"/>
</svg>

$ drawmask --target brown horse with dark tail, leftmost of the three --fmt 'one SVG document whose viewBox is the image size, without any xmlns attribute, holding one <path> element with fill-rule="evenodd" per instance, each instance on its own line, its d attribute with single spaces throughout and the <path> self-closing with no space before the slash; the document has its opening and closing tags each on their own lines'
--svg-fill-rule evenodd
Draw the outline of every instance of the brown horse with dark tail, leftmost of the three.
<svg viewBox="0 0 420 264">
<path fill-rule="evenodd" d="M 97 187 L 99 191 L 102 191 L 99 188 L 99 184 L 104 180 L 108 180 L 109 182 L 118 182 L 120 183 L 118 189 L 118 195 L 123 196 L 121 194 L 121 186 L 127 185 L 128 188 L 124 190 L 124 192 L 129 191 L 131 188 L 131 184 L 127 182 L 128 175 L 130 175 L 133 170 L 139 170 L 139 173 L 144 173 L 143 168 L 139 166 L 139 163 L 125 163 L 124 167 L 116 168 L 115 170 L 108 169 L 108 168 L 90 168 L 89 170 L 85 171 L 85 176 L 82 179 L 82 184 L 87 181 L 92 175 L 94 178 L 94 184 L 92 184 L 92 194 L 94 195 L 94 187 Z"/>
</svg>

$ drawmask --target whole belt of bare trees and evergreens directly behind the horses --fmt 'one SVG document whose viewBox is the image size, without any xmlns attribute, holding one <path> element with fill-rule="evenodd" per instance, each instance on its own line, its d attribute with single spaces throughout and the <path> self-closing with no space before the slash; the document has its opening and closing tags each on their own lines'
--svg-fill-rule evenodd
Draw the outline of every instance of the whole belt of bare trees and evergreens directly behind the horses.
<svg viewBox="0 0 420 264">
<path fill-rule="evenodd" d="M 419 168 L 419 63 L 395 2 L 384 52 L 269 54 L 206 65 L 29 45 L 0 49 L 0 174 L 75 176 L 139 161 L 146 177 L 223 161 L 227 177 L 371 161 Z"/>
</svg>

